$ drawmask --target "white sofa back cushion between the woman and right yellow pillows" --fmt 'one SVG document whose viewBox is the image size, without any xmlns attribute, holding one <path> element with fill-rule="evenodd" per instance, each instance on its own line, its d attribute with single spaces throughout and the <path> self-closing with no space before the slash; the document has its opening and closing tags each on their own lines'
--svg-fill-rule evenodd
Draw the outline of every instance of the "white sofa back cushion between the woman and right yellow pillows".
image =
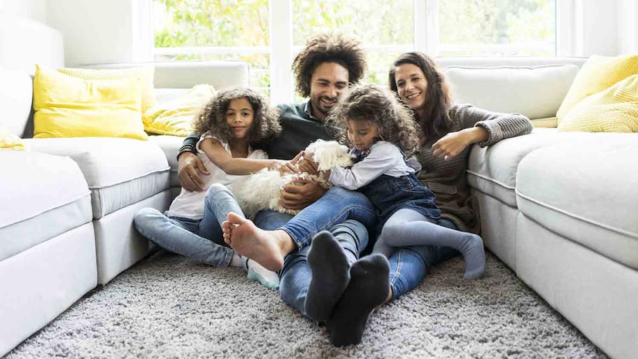
<svg viewBox="0 0 638 359">
<path fill-rule="evenodd" d="M 439 57 L 455 102 L 554 117 L 586 57 Z"/>
</svg>

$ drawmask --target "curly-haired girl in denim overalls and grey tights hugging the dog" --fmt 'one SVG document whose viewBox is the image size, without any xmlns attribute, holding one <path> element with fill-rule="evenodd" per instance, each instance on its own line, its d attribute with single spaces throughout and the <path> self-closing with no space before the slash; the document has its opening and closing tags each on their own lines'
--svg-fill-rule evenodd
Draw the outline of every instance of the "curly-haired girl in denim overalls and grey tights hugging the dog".
<svg viewBox="0 0 638 359">
<path fill-rule="evenodd" d="M 416 177 L 420 164 L 406 157 L 418 151 L 411 110 L 375 85 L 356 85 L 342 96 L 329 121 L 355 156 L 353 167 L 334 168 L 329 181 L 358 190 L 374 205 L 379 228 L 373 253 L 390 257 L 395 247 L 449 246 L 465 259 L 465 278 L 485 272 L 483 240 L 476 234 L 438 225 L 434 193 Z"/>
</svg>

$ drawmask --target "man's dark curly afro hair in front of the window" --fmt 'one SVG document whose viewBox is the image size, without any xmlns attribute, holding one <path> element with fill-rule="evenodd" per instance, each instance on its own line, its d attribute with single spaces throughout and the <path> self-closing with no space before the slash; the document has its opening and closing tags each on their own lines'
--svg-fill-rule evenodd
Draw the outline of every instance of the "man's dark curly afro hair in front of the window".
<svg viewBox="0 0 638 359">
<path fill-rule="evenodd" d="M 296 90 L 302 97 L 310 97 L 313 72 L 324 62 L 335 62 L 348 70 L 348 82 L 358 83 L 367 65 L 359 41 L 341 34 L 319 34 L 306 41 L 306 46 L 292 62 Z"/>
</svg>

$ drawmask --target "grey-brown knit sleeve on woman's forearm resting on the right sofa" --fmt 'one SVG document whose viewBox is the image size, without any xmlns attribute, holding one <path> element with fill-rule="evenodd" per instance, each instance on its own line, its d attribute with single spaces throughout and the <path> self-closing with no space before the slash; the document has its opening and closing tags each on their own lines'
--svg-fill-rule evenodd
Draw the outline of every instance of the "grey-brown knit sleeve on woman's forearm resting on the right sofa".
<svg viewBox="0 0 638 359">
<path fill-rule="evenodd" d="M 529 134 L 532 132 L 532 121 L 520 113 L 497 113 L 486 111 L 469 104 L 457 105 L 453 109 L 462 128 L 483 127 L 488 132 L 488 139 L 478 146 L 491 146 L 502 139 Z"/>
</svg>

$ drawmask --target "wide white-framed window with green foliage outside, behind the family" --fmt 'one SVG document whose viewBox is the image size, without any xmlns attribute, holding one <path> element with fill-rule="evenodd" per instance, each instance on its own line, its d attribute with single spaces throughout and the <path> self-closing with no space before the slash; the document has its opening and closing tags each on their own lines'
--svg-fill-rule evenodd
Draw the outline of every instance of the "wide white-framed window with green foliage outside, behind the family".
<svg viewBox="0 0 638 359">
<path fill-rule="evenodd" d="M 153 0 L 153 57 L 243 59 L 250 85 L 280 103 L 293 99 L 292 59 L 312 34 L 358 38 L 367 52 L 366 80 L 386 85 L 392 61 L 411 50 L 553 56 L 556 6 L 556 0 Z"/>
</svg>

